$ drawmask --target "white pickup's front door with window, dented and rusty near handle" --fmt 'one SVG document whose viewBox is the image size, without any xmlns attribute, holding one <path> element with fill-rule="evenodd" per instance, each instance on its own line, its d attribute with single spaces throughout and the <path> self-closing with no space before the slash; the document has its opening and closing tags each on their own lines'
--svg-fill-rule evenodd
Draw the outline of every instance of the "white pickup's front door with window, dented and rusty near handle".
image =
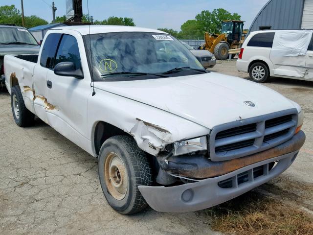
<svg viewBox="0 0 313 235">
<path fill-rule="evenodd" d="M 63 34 L 59 43 L 54 66 L 60 62 L 74 62 L 81 68 L 81 54 L 85 53 L 81 36 L 79 51 L 77 39 Z M 87 71 L 84 71 L 85 73 Z M 89 72 L 89 71 L 88 71 Z M 91 94 L 90 80 L 70 76 L 59 76 L 53 70 L 47 72 L 48 123 L 67 139 L 79 146 L 86 145 L 87 138 L 87 105 Z M 87 138 L 87 139 L 86 139 Z M 90 139 L 90 138 L 89 138 Z"/>
</svg>

